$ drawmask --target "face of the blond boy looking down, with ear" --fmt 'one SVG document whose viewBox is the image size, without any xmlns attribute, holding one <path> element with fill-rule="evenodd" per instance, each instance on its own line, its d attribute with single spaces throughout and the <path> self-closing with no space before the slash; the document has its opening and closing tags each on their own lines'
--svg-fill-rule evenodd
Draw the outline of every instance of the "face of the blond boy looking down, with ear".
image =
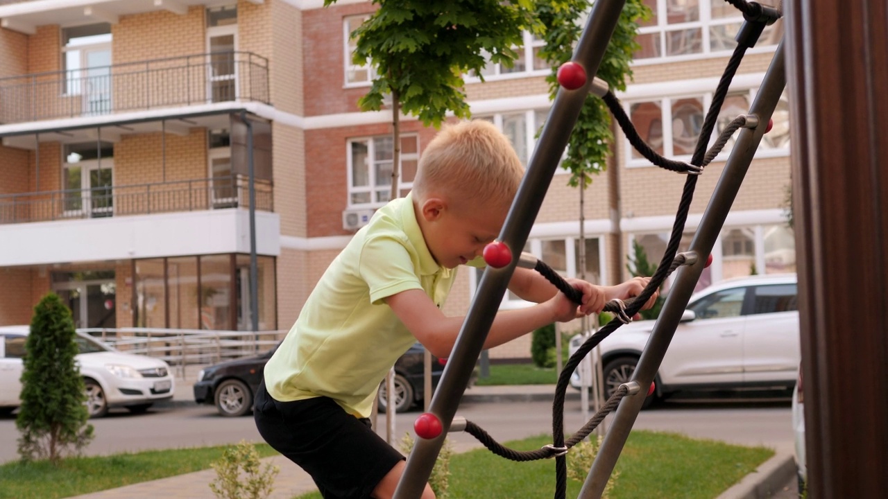
<svg viewBox="0 0 888 499">
<path fill-rule="evenodd" d="M 423 236 L 438 265 L 454 268 L 475 257 L 503 228 L 509 207 L 495 202 L 424 202 Z"/>
</svg>

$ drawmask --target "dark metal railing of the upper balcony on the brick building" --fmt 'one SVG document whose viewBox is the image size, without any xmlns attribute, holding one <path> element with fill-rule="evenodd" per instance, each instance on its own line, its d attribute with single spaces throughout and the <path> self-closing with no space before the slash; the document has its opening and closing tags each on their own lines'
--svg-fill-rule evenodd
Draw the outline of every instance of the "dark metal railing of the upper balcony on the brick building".
<svg viewBox="0 0 888 499">
<path fill-rule="evenodd" d="M 268 59 L 220 51 L 0 79 L 0 123 L 223 101 L 269 103 Z"/>
</svg>

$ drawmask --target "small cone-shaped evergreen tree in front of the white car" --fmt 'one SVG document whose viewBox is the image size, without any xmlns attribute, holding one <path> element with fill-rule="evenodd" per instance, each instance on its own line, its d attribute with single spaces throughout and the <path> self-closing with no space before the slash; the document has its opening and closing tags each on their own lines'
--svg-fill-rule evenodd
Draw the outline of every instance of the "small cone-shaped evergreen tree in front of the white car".
<svg viewBox="0 0 888 499">
<path fill-rule="evenodd" d="M 25 351 L 15 422 L 21 433 L 19 454 L 22 461 L 58 464 L 67 453 L 79 454 L 93 437 L 74 359 L 79 352 L 74 321 L 58 295 L 49 293 L 34 307 Z"/>
</svg>

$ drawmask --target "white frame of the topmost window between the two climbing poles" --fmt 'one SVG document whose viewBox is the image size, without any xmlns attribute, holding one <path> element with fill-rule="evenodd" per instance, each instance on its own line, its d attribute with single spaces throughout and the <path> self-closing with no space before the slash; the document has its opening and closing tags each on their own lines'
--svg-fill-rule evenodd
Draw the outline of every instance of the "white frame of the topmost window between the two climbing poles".
<svg viewBox="0 0 888 499">
<path fill-rule="evenodd" d="M 733 48 L 719 51 L 710 50 L 710 28 L 714 26 L 735 24 L 738 22 L 742 25 L 743 14 L 742 12 L 740 12 L 740 10 L 736 10 L 735 16 L 713 19 L 710 0 L 698 0 L 700 10 L 700 18 L 698 20 L 669 24 L 666 22 L 666 8 L 668 1 L 669 0 L 657 0 L 657 12 L 655 12 L 657 24 L 655 26 L 645 26 L 638 28 L 639 36 L 650 34 L 659 35 L 660 48 L 663 52 L 663 55 L 659 57 L 649 57 L 645 59 L 634 59 L 632 61 L 633 65 L 644 66 L 646 64 L 662 64 L 664 61 L 674 62 L 680 60 L 698 60 L 710 57 L 724 57 L 726 54 L 730 54 L 733 51 Z M 680 31 L 692 28 L 700 28 L 701 30 L 701 51 L 690 54 L 666 55 L 666 34 L 672 31 Z M 776 47 L 777 44 L 756 44 L 756 46 L 749 49 L 747 53 L 762 53 L 774 51 Z"/>
</svg>

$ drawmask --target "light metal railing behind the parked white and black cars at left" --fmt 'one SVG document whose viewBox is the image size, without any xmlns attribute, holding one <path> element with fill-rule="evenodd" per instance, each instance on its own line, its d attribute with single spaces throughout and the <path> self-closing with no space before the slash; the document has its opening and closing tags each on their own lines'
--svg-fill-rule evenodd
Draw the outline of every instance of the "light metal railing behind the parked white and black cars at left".
<svg viewBox="0 0 888 499">
<path fill-rule="evenodd" d="M 121 352 L 161 359 L 184 378 L 193 365 L 217 364 L 267 352 L 286 330 L 226 331 L 208 329 L 83 328 L 77 329 Z"/>
</svg>

